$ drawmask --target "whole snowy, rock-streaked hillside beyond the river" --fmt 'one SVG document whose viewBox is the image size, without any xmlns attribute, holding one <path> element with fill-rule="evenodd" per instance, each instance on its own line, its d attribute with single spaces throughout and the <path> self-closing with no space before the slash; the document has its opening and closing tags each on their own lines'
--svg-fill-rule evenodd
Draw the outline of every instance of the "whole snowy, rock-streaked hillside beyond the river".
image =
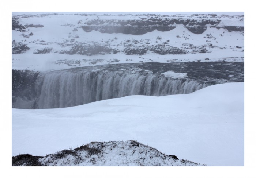
<svg viewBox="0 0 256 178">
<path fill-rule="evenodd" d="M 12 15 L 12 69 L 244 61 L 244 16 Z"/>
</svg>

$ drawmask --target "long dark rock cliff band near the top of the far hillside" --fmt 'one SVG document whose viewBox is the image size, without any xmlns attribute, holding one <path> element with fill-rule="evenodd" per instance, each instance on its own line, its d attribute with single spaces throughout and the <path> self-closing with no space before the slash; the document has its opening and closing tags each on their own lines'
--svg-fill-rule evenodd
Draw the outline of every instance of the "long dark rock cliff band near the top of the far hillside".
<svg viewBox="0 0 256 178">
<path fill-rule="evenodd" d="M 101 33 L 123 33 L 132 35 L 142 35 L 154 30 L 170 31 L 175 24 L 183 24 L 189 31 L 195 34 L 202 34 L 207 29 L 207 24 L 217 25 L 220 20 L 194 20 L 194 19 L 169 19 L 169 18 L 142 18 L 141 20 L 91 20 L 82 26 L 86 32 L 92 30 Z"/>
</svg>

